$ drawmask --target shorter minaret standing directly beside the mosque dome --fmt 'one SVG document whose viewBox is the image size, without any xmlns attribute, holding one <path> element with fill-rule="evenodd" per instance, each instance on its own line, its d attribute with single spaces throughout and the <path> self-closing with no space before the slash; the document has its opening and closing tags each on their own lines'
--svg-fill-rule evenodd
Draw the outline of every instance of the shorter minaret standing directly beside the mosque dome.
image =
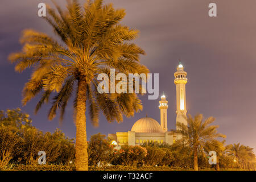
<svg viewBox="0 0 256 182">
<path fill-rule="evenodd" d="M 160 118 L 161 118 L 161 127 L 163 131 L 167 131 L 167 109 L 168 109 L 168 101 L 166 100 L 166 96 L 164 94 L 161 96 L 161 100 L 159 101 L 159 109 L 160 109 Z"/>
</svg>

